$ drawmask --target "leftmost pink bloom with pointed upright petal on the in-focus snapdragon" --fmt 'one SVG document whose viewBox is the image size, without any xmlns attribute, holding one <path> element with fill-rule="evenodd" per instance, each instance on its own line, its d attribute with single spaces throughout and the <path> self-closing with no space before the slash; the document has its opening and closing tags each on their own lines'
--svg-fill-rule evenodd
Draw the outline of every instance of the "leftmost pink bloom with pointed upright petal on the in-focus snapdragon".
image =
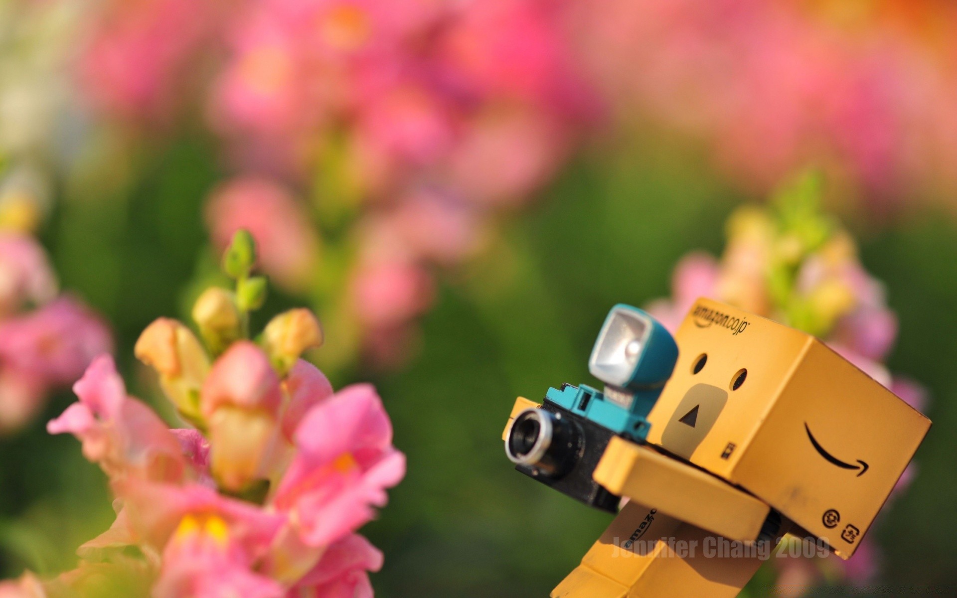
<svg viewBox="0 0 957 598">
<path fill-rule="evenodd" d="M 102 355 L 94 360 L 74 391 L 79 402 L 47 424 L 48 432 L 77 436 L 83 455 L 99 463 L 114 482 L 184 476 L 186 464 L 176 437 L 152 410 L 126 396 L 113 358 Z"/>
</svg>

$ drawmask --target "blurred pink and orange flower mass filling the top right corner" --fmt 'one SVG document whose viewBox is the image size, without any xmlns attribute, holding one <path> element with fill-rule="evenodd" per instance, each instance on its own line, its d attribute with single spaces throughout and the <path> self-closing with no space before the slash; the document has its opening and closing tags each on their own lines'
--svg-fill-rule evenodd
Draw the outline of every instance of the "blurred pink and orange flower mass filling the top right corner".
<svg viewBox="0 0 957 598">
<path fill-rule="evenodd" d="M 704 139 L 751 188 L 772 188 L 810 162 L 872 205 L 913 201 L 915 188 L 952 196 L 952 4 L 603 0 L 579 8 L 586 59 L 623 111 Z"/>
</svg>

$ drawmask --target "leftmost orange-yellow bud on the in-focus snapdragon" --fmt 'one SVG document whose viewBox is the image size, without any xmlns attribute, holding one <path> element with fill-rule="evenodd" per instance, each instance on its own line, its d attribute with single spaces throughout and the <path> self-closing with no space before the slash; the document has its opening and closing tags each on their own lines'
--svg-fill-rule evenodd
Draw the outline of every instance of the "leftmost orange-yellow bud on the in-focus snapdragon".
<svg viewBox="0 0 957 598">
<path fill-rule="evenodd" d="M 137 359 L 160 374 L 160 386 L 173 405 L 200 424 L 199 391 L 210 370 L 206 350 L 179 321 L 160 318 L 146 326 L 133 349 Z"/>
</svg>

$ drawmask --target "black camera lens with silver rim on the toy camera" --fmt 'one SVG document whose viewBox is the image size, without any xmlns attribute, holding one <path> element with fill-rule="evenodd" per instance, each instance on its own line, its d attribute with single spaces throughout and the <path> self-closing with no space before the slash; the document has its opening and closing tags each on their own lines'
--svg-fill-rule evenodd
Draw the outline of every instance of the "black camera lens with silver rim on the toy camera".
<svg viewBox="0 0 957 598">
<path fill-rule="evenodd" d="M 505 454 L 514 463 L 559 477 L 574 465 L 580 433 L 560 413 L 524 410 L 515 417 L 505 440 Z"/>
</svg>

